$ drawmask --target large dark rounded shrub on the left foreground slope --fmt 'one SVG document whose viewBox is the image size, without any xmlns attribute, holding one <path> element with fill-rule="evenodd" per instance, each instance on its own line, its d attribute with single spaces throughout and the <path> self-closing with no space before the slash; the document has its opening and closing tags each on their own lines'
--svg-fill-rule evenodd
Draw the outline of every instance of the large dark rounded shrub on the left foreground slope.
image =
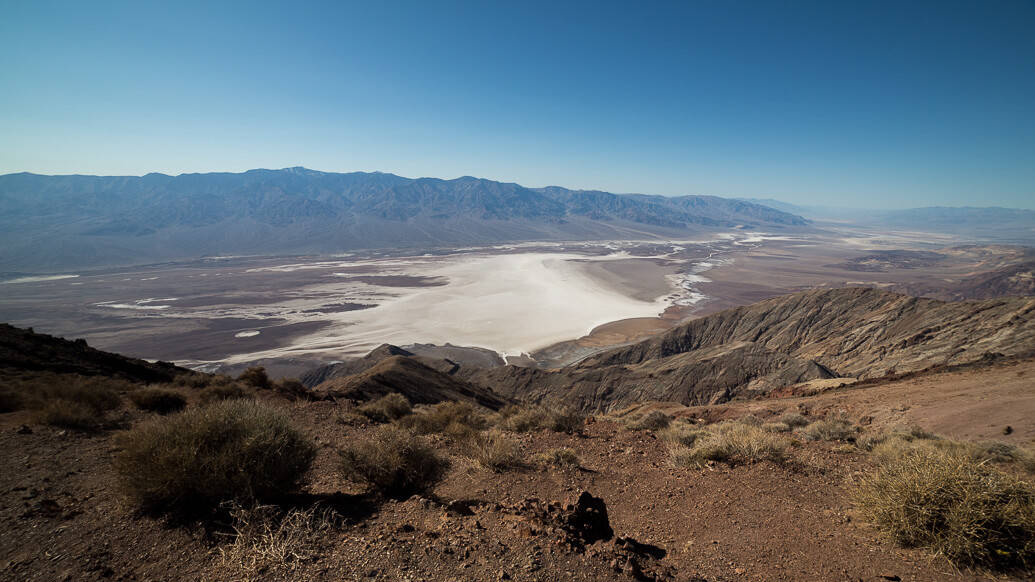
<svg viewBox="0 0 1035 582">
<path fill-rule="evenodd" d="M 116 469 L 152 508 L 209 510 L 295 490 L 316 446 L 273 407 L 229 400 L 155 418 L 121 435 Z"/>
</svg>

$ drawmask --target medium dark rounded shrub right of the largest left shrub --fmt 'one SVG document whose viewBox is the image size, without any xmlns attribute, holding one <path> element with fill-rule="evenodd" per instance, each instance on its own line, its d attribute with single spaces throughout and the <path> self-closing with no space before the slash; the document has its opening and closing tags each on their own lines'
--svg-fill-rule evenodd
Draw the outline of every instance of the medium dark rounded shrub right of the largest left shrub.
<svg viewBox="0 0 1035 582">
<path fill-rule="evenodd" d="M 449 467 L 449 461 L 424 439 L 392 425 L 351 443 L 341 455 L 345 478 L 393 496 L 432 489 Z"/>
</svg>

